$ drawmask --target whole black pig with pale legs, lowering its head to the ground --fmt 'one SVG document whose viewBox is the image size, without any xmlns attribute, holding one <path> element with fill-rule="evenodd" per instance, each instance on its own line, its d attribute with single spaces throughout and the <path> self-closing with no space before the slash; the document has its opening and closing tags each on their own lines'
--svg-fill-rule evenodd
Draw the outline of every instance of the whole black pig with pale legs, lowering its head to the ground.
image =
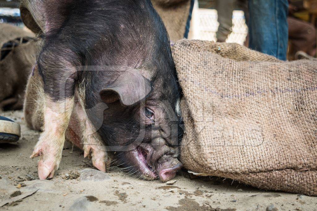
<svg viewBox="0 0 317 211">
<path fill-rule="evenodd" d="M 52 178 L 65 136 L 106 171 L 112 156 L 165 182 L 182 167 L 181 97 L 170 42 L 150 0 L 22 0 L 38 34 L 24 116 L 42 130 L 31 158 Z M 110 153 L 111 152 L 111 153 Z"/>
</svg>

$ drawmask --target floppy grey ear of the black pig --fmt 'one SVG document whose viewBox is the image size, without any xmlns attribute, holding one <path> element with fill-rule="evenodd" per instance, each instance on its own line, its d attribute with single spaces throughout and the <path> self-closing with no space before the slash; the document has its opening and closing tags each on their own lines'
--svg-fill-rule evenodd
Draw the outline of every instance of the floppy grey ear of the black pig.
<svg viewBox="0 0 317 211">
<path fill-rule="evenodd" d="M 105 103 L 120 100 L 123 105 L 133 105 L 143 100 L 152 90 L 151 82 L 137 70 L 126 71 L 112 84 L 100 91 L 101 100 Z"/>
</svg>

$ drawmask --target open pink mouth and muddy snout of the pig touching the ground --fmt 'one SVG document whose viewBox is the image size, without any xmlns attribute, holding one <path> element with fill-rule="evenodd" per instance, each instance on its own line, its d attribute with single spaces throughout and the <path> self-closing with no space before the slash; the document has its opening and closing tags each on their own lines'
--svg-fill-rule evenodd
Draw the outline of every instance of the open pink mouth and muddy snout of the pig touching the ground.
<svg viewBox="0 0 317 211">
<path fill-rule="evenodd" d="M 182 167 L 182 164 L 169 155 L 160 155 L 155 164 L 151 164 L 151 158 L 155 157 L 153 151 L 146 149 L 144 146 L 137 146 L 130 158 L 134 159 L 133 166 L 139 170 L 140 176 L 144 179 L 154 180 L 159 178 L 166 182 L 175 177 L 176 172 Z M 130 154 L 131 155 L 131 154 Z M 154 158 L 155 159 L 155 158 Z"/>
</svg>

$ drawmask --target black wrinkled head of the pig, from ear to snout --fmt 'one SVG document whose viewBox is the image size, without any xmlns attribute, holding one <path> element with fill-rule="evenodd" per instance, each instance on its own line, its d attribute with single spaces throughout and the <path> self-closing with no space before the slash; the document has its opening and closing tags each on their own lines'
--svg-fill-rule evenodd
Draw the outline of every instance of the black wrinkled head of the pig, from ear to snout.
<svg viewBox="0 0 317 211">
<path fill-rule="evenodd" d="M 182 164 L 180 93 L 173 72 L 151 76 L 142 69 L 126 69 L 99 95 L 107 105 L 99 133 L 123 168 L 144 179 L 175 177 Z"/>
</svg>

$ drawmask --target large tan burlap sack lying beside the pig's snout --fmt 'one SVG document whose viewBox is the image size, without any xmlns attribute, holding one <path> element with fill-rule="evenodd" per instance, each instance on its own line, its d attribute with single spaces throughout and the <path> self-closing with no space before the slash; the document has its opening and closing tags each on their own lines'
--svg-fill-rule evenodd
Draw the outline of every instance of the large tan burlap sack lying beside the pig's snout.
<svg viewBox="0 0 317 211">
<path fill-rule="evenodd" d="M 269 190 L 317 195 L 317 60 L 282 62 L 237 44 L 173 47 L 184 167 Z"/>
</svg>

